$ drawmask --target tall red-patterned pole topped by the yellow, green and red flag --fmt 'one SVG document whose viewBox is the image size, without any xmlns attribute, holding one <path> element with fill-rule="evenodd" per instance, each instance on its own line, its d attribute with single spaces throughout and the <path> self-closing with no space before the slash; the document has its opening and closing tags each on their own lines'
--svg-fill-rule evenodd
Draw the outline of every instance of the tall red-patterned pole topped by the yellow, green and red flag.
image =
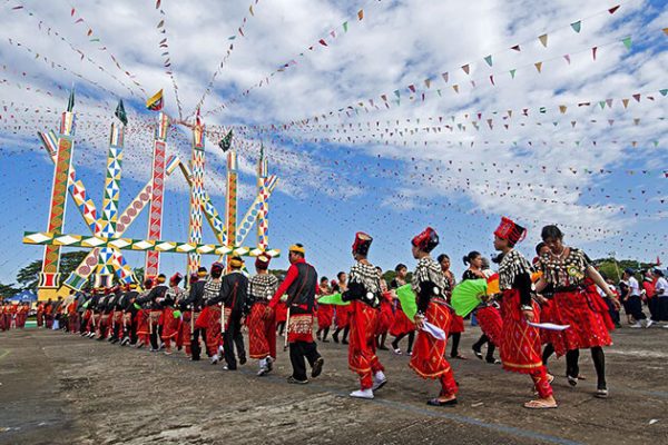
<svg viewBox="0 0 668 445">
<path fill-rule="evenodd" d="M 150 175 L 151 197 L 148 215 L 148 239 L 160 239 L 163 235 L 163 200 L 165 191 L 165 165 L 166 165 L 166 141 L 169 118 L 161 112 L 163 90 L 148 99 L 146 108 L 158 113 L 158 126 L 154 136 L 154 158 Z M 160 254 L 158 251 L 146 253 L 146 266 L 144 269 L 145 278 L 155 278 L 158 276 L 160 266 Z"/>
</svg>

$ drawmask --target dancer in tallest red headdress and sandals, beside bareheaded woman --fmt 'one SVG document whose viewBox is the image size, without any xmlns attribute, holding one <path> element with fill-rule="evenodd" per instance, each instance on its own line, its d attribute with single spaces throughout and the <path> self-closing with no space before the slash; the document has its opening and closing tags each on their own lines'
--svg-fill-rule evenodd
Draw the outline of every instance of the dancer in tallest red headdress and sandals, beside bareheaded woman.
<svg viewBox="0 0 668 445">
<path fill-rule="evenodd" d="M 525 408 L 556 408 L 552 396 L 553 379 L 542 363 L 540 334 L 529 322 L 539 322 L 540 309 L 531 299 L 531 265 L 514 249 L 524 239 L 527 230 L 503 217 L 494 230 L 494 248 L 502 254 L 499 264 L 499 289 L 502 293 L 501 316 L 503 339 L 501 362 L 505 370 L 529 374 L 539 398 L 527 402 Z"/>
</svg>

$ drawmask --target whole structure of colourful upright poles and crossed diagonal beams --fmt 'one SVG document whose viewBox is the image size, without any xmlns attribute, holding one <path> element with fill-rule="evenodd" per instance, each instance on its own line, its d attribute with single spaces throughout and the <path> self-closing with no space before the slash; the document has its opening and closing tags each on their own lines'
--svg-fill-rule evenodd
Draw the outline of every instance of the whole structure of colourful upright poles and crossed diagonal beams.
<svg viewBox="0 0 668 445">
<path fill-rule="evenodd" d="M 71 96 L 73 99 L 73 93 Z M 45 245 L 42 270 L 39 280 L 39 298 L 52 298 L 66 295 L 69 289 L 80 290 L 95 274 L 96 286 L 110 286 L 114 274 L 120 283 L 136 280 L 132 269 L 122 256 L 122 250 L 146 251 L 145 276 L 155 277 L 159 270 L 160 253 L 187 254 L 187 269 L 196 271 L 202 255 L 218 255 L 224 259 L 230 255 L 276 257 L 281 253 L 268 247 L 268 198 L 278 179 L 268 175 L 264 148 L 257 167 L 257 196 L 250 204 L 244 218 L 237 224 L 237 159 L 233 149 L 227 154 L 227 195 L 225 221 L 204 187 L 205 130 L 199 118 L 193 129 L 193 158 L 190 165 L 178 157 L 167 157 L 167 131 L 169 117 L 158 113 L 154 135 L 151 176 L 130 204 L 119 211 L 121 192 L 120 178 L 125 140 L 125 121 L 111 123 L 107 156 L 106 179 L 101 211 L 90 199 L 84 182 L 77 178 L 71 165 L 75 145 L 76 115 L 73 100 L 62 113 L 58 135 L 55 131 L 38 132 L 49 158 L 55 164 L 51 186 L 51 200 L 47 231 L 26 231 L 24 244 Z M 161 239 L 163 204 L 165 180 L 176 168 L 183 172 L 190 186 L 190 215 L 188 241 L 167 241 Z M 84 218 L 90 236 L 65 233 L 65 210 L 67 195 L 70 195 Z M 145 207 L 149 208 L 147 239 L 126 238 L 122 235 L 135 222 Z M 206 218 L 216 237 L 217 244 L 203 244 L 203 219 Z M 250 228 L 257 222 L 256 247 L 240 246 Z M 84 247 L 91 250 L 69 277 L 60 283 L 61 247 Z"/>
</svg>

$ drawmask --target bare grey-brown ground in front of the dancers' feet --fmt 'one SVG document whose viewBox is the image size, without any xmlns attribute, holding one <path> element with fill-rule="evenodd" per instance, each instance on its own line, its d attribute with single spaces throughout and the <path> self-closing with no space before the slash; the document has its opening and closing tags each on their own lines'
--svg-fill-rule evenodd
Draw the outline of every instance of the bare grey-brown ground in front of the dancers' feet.
<svg viewBox="0 0 668 445">
<path fill-rule="evenodd" d="M 469 329 L 462 350 L 479 330 Z M 428 407 L 436 384 L 407 358 L 381 352 L 389 384 L 351 399 L 347 349 L 320 344 L 323 375 L 288 385 L 286 355 L 274 374 L 256 364 L 225 373 L 180 353 L 150 354 L 57 332 L 0 335 L 1 444 L 637 444 L 668 443 L 668 329 L 621 329 L 607 349 L 608 400 L 593 398 L 589 354 L 576 389 L 558 377 L 558 409 L 529 412 L 529 377 L 478 359 L 453 360 L 460 405 Z M 563 375 L 563 360 L 552 372 Z M 652 421 L 654 419 L 654 421 Z"/>
</svg>

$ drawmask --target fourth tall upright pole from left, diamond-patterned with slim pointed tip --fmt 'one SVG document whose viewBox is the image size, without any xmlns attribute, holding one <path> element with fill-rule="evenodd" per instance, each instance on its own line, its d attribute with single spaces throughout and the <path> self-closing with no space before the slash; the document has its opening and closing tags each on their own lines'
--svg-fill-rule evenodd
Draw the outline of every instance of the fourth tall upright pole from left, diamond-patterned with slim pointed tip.
<svg viewBox="0 0 668 445">
<path fill-rule="evenodd" d="M 204 125 L 199 118 L 199 109 L 193 127 L 193 158 L 190 160 L 190 219 L 188 222 L 188 243 L 202 243 L 203 200 L 204 200 Z M 188 279 L 199 268 L 202 255 L 188 254 Z"/>
</svg>

